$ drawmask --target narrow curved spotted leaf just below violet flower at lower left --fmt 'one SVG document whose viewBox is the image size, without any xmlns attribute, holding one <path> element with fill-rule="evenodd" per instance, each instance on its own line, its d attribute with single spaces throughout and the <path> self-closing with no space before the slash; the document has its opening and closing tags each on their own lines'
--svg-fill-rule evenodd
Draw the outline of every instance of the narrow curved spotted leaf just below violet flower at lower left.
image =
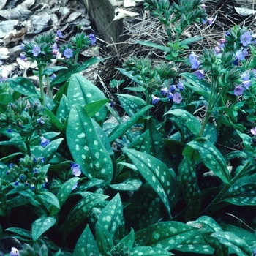
<svg viewBox="0 0 256 256">
<path fill-rule="evenodd" d="M 68 181 L 61 185 L 57 194 L 57 199 L 59 200 L 59 208 L 57 208 L 56 206 L 50 206 L 50 214 L 53 215 L 59 212 L 59 209 L 61 208 L 61 206 L 63 206 L 63 204 L 66 202 L 67 198 L 71 194 L 72 187 L 76 184 L 76 182 L 78 182 L 79 179 L 80 178 L 78 177 L 70 178 Z"/>
</svg>

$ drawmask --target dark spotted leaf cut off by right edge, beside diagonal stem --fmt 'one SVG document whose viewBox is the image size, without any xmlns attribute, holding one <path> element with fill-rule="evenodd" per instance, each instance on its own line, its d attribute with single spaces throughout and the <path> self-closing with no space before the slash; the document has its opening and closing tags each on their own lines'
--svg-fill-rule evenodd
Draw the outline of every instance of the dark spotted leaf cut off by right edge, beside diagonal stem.
<svg viewBox="0 0 256 256">
<path fill-rule="evenodd" d="M 221 200 L 236 206 L 256 206 L 256 173 L 239 178 Z"/>
</svg>

